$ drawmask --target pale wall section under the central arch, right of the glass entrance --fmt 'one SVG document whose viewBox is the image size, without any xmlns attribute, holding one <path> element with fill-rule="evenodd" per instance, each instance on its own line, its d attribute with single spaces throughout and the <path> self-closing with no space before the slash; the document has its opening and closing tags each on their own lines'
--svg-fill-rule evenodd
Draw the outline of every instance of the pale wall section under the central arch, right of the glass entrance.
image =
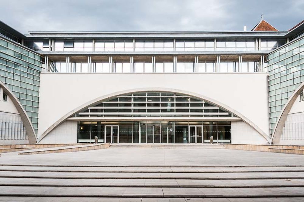
<svg viewBox="0 0 304 202">
<path fill-rule="evenodd" d="M 268 142 L 244 121 L 233 121 L 231 122 L 231 143 L 267 144 Z"/>
</svg>

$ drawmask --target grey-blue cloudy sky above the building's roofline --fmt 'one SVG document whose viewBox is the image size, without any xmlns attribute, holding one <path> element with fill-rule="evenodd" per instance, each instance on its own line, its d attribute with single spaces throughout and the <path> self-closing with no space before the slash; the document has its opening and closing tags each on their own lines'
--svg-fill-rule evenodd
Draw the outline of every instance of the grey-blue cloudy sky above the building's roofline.
<svg viewBox="0 0 304 202">
<path fill-rule="evenodd" d="M 304 19 L 303 0 L 3 0 L 0 19 L 28 31 L 280 31 Z"/>
</svg>

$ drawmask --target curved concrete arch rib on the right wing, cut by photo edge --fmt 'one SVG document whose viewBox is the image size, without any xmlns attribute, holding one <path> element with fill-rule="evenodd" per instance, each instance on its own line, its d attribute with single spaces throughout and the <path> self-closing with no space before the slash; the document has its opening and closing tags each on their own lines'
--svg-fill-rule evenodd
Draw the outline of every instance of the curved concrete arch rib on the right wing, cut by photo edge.
<svg viewBox="0 0 304 202">
<path fill-rule="evenodd" d="M 278 117 L 278 121 L 275 124 L 274 133 L 271 139 L 272 144 L 280 143 L 280 139 L 285 125 L 285 121 L 287 119 L 287 115 L 290 112 L 290 109 L 292 108 L 293 104 L 295 103 L 295 100 L 301 94 L 303 89 L 304 89 L 304 82 L 302 82 L 301 85 L 292 93 L 287 103 L 285 104 L 284 108 L 282 109 L 281 114 Z"/>
</svg>

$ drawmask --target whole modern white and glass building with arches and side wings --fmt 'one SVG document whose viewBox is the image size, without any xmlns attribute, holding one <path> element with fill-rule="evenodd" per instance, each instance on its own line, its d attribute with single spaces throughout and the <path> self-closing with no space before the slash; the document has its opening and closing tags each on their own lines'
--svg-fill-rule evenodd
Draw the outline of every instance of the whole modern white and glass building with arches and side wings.
<svg viewBox="0 0 304 202">
<path fill-rule="evenodd" d="M 304 144 L 304 21 L 29 32 L 0 22 L 0 143 Z"/>
</svg>

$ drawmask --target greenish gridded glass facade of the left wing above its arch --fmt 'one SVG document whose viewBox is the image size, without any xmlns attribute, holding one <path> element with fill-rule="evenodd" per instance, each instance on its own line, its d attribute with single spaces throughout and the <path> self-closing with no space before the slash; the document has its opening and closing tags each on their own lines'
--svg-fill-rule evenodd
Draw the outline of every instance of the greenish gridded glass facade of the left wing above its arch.
<svg viewBox="0 0 304 202">
<path fill-rule="evenodd" d="M 0 47 L 0 80 L 19 99 L 37 133 L 40 72 L 43 58 L 1 36 Z"/>
</svg>

